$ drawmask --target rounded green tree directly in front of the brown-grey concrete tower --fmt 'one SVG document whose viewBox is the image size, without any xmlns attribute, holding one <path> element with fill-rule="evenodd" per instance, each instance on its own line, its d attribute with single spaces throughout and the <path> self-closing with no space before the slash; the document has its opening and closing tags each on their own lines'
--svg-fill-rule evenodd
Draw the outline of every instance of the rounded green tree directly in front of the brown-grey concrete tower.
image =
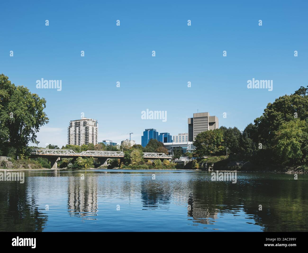
<svg viewBox="0 0 308 253">
<path fill-rule="evenodd" d="M 198 134 L 193 142 L 193 145 L 196 146 L 196 155 L 204 157 L 222 154 L 225 149 L 223 133 L 222 129 L 214 129 Z"/>
</svg>

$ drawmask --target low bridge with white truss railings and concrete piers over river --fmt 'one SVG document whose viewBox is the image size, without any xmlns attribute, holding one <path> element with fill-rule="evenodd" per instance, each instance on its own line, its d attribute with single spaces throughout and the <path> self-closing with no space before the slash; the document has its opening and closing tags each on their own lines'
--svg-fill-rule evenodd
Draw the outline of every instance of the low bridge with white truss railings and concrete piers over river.
<svg viewBox="0 0 308 253">
<path fill-rule="evenodd" d="M 122 151 L 97 151 L 97 150 L 87 150 L 80 153 L 75 153 L 68 149 L 34 149 L 30 153 L 30 158 L 47 158 L 51 163 L 52 168 L 57 168 L 57 161 L 61 158 L 73 158 L 73 162 L 77 157 L 93 157 L 99 160 L 99 163 L 104 164 L 108 159 L 124 158 L 124 152 Z M 172 159 L 171 155 L 166 155 L 164 153 L 143 153 L 144 159 Z"/>
</svg>

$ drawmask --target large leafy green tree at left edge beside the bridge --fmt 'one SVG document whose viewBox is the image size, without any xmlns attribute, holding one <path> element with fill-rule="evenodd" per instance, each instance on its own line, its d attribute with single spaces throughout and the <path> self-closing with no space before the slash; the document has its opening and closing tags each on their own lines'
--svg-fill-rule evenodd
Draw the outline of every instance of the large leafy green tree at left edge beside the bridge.
<svg viewBox="0 0 308 253">
<path fill-rule="evenodd" d="M 23 156 L 29 142 L 38 144 L 36 133 L 48 123 L 45 98 L 32 94 L 24 86 L 15 86 L 4 74 L 0 75 L 0 150 L 8 148 Z"/>
</svg>

